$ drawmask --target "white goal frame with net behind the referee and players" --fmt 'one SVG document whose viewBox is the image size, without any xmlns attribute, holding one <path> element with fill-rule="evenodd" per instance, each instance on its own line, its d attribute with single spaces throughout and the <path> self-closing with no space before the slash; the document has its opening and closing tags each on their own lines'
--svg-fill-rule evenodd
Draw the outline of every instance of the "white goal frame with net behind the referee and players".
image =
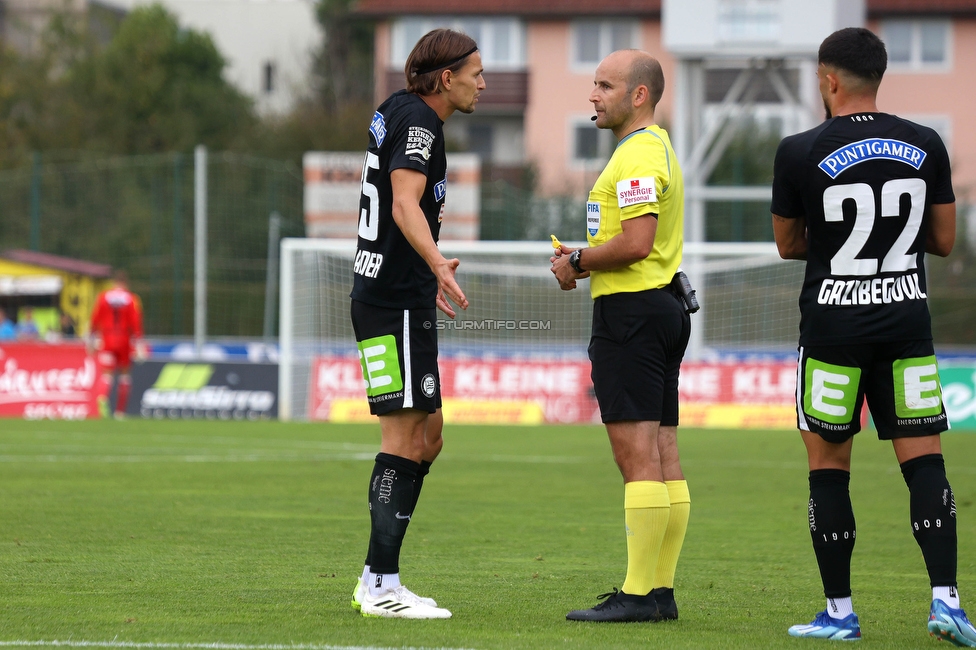
<svg viewBox="0 0 976 650">
<path fill-rule="evenodd" d="M 580 244 L 576 244 L 580 245 Z M 586 359 L 589 282 L 560 291 L 548 242 L 440 243 L 461 264 L 470 303 L 455 320 L 438 312 L 440 358 Z M 285 239 L 281 245 L 279 416 L 309 417 L 313 368 L 321 358 L 356 358 L 349 317 L 355 240 Z M 803 265 L 784 262 L 773 244 L 686 244 L 682 265 L 698 291 L 688 357 L 782 354 L 795 350 Z M 346 375 L 350 375 L 348 371 Z M 525 379 L 522 379 L 525 381 Z M 320 380 L 321 381 L 321 380 Z M 350 383 L 362 378 L 330 377 Z"/>
</svg>

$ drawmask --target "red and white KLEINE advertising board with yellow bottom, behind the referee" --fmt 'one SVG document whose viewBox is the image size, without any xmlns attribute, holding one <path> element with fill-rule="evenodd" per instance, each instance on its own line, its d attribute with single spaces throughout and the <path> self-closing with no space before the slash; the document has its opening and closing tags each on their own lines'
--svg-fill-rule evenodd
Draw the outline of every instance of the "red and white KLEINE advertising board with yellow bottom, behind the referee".
<svg viewBox="0 0 976 650">
<path fill-rule="evenodd" d="M 586 360 L 444 359 L 441 395 L 447 422 L 599 423 Z M 796 363 L 685 363 L 681 422 L 686 426 L 796 426 Z M 326 355 L 312 365 L 311 420 L 368 421 L 363 376 L 355 357 Z"/>
</svg>

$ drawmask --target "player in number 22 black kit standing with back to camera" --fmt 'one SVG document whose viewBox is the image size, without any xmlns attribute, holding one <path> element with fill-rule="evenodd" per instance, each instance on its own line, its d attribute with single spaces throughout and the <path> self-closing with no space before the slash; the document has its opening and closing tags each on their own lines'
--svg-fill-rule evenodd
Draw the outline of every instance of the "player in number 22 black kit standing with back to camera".
<svg viewBox="0 0 976 650">
<path fill-rule="evenodd" d="M 827 120 L 785 138 L 776 152 L 773 236 L 783 258 L 806 260 L 796 413 L 826 597 L 813 621 L 787 631 L 861 638 L 851 584 L 859 537 L 851 457 L 867 403 L 908 487 L 911 531 L 932 588 L 926 628 L 976 647 L 958 590 L 956 502 L 940 436 L 949 421 L 926 304 L 924 256 L 945 257 L 955 244 L 949 157 L 932 129 L 878 110 L 887 65 L 884 42 L 868 29 L 825 38 L 817 80 Z"/>
</svg>

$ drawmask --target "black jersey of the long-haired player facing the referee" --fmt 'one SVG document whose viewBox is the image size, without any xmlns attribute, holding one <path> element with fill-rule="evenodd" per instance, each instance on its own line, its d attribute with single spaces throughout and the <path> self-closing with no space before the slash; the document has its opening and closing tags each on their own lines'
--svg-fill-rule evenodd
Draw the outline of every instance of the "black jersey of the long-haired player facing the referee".
<svg viewBox="0 0 976 650">
<path fill-rule="evenodd" d="M 350 296 L 379 307 L 432 308 L 437 279 L 393 221 L 395 169 L 427 176 L 420 208 L 437 241 L 447 193 L 444 123 L 424 100 L 401 90 L 383 102 L 369 125 L 359 200 L 359 244 Z"/>
</svg>

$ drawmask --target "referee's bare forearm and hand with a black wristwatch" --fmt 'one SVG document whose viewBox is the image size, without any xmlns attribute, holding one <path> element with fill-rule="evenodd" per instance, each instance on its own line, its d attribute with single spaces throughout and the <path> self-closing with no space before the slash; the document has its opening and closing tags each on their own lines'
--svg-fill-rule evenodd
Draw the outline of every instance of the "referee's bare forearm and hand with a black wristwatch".
<svg viewBox="0 0 976 650">
<path fill-rule="evenodd" d="M 657 217 L 651 213 L 620 222 L 622 233 L 607 243 L 584 248 L 580 266 L 587 273 L 580 275 L 569 263 L 569 253 L 575 249 L 560 247 L 560 255 L 551 259 L 552 272 L 562 289 L 575 287 L 575 281 L 586 277 L 589 271 L 609 271 L 629 266 L 651 254 L 654 236 L 657 234 Z M 570 286 L 572 285 L 572 286 Z"/>
</svg>

